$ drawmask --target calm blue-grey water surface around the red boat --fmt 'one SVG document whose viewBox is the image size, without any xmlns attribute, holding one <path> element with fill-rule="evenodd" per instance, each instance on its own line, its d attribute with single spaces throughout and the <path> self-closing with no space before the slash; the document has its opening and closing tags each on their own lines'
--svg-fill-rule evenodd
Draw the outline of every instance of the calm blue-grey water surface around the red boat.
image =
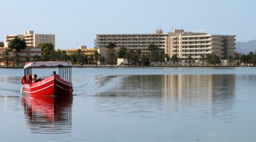
<svg viewBox="0 0 256 142">
<path fill-rule="evenodd" d="M 22 75 L 0 69 L 0 141 L 256 139 L 256 68 L 73 68 L 54 103 L 21 95 Z"/>
</svg>

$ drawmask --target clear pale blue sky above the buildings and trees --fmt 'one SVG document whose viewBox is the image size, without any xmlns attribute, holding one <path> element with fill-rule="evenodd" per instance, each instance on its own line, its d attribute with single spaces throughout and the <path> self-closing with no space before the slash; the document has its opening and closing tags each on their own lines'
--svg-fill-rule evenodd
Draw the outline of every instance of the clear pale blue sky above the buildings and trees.
<svg viewBox="0 0 256 142">
<path fill-rule="evenodd" d="M 0 0 L 4 35 L 55 35 L 55 49 L 93 48 L 97 34 L 145 34 L 156 29 L 206 30 L 256 40 L 255 0 Z"/>
</svg>

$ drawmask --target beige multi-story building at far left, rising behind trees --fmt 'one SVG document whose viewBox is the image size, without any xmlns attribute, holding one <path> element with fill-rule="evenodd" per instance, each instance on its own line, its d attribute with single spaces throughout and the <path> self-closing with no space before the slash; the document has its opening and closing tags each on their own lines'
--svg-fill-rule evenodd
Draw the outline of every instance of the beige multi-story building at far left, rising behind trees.
<svg viewBox="0 0 256 142">
<path fill-rule="evenodd" d="M 38 47 L 41 43 L 50 42 L 55 47 L 55 35 L 48 34 L 34 34 L 32 30 L 27 30 L 24 35 L 5 35 L 4 36 L 4 47 L 8 47 L 8 42 L 13 40 L 14 37 L 25 39 L 27 47 Z"/>
</svg>

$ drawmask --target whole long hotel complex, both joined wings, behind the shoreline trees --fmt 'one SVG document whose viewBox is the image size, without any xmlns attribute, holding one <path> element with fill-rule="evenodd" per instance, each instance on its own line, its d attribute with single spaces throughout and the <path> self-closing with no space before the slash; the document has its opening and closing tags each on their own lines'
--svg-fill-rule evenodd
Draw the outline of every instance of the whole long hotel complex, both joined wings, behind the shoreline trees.
<svg viewBox="0 0 256 142">
<path fill-rule="evenodd" d="M 179 59 L 188 56 L 199 59 L 206 54 L 216 54 L 220 59 L 235 56 L 235 35 L 207 35 L 205 30 L 172 30 L 166 34 L 162 30 L 156 30 L 155 34 L 98 34 L 95 47 L 105 48 L 109 42 L 114 42 L 117 49 L 124 45 L 127 49 L 142 49 L 145 53 L 149 44 L 154 44 L 164 49 L 169 57 L 177 54 Z"/>
</svg>

